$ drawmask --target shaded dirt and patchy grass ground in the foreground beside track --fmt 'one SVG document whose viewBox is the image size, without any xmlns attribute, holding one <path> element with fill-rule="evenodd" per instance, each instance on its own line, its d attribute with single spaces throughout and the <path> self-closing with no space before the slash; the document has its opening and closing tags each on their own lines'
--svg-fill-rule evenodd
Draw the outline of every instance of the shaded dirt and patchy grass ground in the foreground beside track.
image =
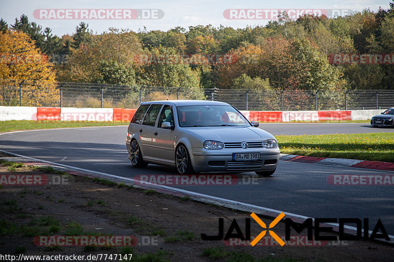
<svg viewBox="0 0 394 262">
<path fill-rule="evenodd" d="M 316 246 L 287 244 L 282 247 L 268 237 L 269 233 L 255 247 L 235 240 L 202 240 L 201 233 L 218 234 L 219 218 L 224 218 L 225 234 L 233 219 L 245 233 L 245 218 L 250 218 L 250 213 L 191 201 L 187 197 L 106 183 L 105 180 L 44 173 L 26 165 L 0 166 L 0 177 L 7 175 L 31 175 L 33 178 L 42 175 L 41 178 L 46 177 L 47 180 L 44 180 L 47 182 L 43 185 L 1 186 L 2 255 L 83 255 L 86 258 L 88 255 L 102 254 L 102 261 L 105 261 L 104 255 L 110 254 L 112 261 L 115 254 L 133 254 L 131 261 L 259 261 L 265 258 L 269 261 L 393 260 L 394 247 L 372 241 L 322 241 L 316 242 Z M 260 218 L 267 224 L 272 221 L 272 218 Z M 251 225 L 253 239 L 263 229 L 253 219 Z M 279 222 L 274 231 L 278 235 L 284 234 L 284 223 Z M 91 239 L 98 239 L 99 236 L 135 236 L 133 239 L 136 242 L 132 242 L 135 245 L 131 248 L 103 247 L 99 244 L 53 246 L 49 240 L 38 242 L 48 246 L 37 246 L 37 239 L 42 240 L 39 238 L 42 235 L 88 235 Z M 229 246 L 230 243 L 238 246 Z M 293 243 L 307 244 L 305 236 Z M 107 257 L 106 261 L 111 260 Z"/>
</svg>

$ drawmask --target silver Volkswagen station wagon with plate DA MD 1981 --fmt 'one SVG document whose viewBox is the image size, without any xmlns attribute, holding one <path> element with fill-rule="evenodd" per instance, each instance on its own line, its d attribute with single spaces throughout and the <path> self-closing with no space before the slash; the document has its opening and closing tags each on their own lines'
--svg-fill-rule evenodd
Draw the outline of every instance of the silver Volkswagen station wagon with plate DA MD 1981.
<svg viewBox="0 0 394 262">
<path fill-rule="evenodd" d="M 275 172 L 274 136 L 233 106 L 217 101 L 143 102 L 131 119 L 126 147 L 133 167 L 173 166 L 179 174 Z"/>
</svg>

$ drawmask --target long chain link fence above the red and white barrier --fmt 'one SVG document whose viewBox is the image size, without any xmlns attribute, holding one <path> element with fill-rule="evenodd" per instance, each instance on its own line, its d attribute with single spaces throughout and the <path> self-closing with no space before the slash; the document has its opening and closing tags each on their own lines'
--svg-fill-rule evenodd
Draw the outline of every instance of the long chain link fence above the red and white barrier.
<svg viewBox="0 0 394 262">
<path fill-rule="evenodd" d="M 239 110 L 358 110 L 394 107 L 394 90 L 255 90 L 0 80 L 1 106 L 137 108 L 143 101 L 206 99 Z"/>
</svg>

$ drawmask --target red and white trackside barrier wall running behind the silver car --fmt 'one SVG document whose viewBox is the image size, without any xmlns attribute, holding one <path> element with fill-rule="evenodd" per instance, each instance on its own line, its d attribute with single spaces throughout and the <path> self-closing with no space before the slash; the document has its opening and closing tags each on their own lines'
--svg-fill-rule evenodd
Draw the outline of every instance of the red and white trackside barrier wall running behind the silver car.
<svg viewBox="0 0 394 262">
<path fill-rule="evenodd" d="M 73 107 L 4 107 L 0 121 L 61 120 L 61 121 L 130 121 L 136 109 L 73 108 Z M 346 111 L 241 111 L 249 120 L 259 122 L 366 120 L 383 110 Z"/>
</svg>

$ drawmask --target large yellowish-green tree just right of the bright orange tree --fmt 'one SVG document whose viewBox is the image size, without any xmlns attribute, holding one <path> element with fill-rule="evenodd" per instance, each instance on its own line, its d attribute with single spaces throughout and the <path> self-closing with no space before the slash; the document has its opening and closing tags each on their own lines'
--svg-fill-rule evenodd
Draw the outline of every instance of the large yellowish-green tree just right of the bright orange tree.
<svg viewBox="0 0 394 262">
<path fill-rule="evenodd" d="M 130 72 L 136 71 L 138 67 L 134 58 L 142 53 L 141 43 L 134 32 L 111 28 L 100 35 L 93 35 L 89 42 L 81 43 L 78 49 L 72 49 L 67 62 L 59 69 L 57 78 L 59 81 L 80 83 L 106 83 L 105 80 L 108 80 L 110 84 L 115 84 L 116 79 L 123 79 L 123 84 L 127 79 L 127 83 L 133 83 L 130 79 L 133 74 Z M 104 68 L 107 77 L 102 75 Z M 108 75 L 112 71 L 124 70 L 130 73 L 127 73 L 127 77 L 110 78 Z"/>
</svg>

